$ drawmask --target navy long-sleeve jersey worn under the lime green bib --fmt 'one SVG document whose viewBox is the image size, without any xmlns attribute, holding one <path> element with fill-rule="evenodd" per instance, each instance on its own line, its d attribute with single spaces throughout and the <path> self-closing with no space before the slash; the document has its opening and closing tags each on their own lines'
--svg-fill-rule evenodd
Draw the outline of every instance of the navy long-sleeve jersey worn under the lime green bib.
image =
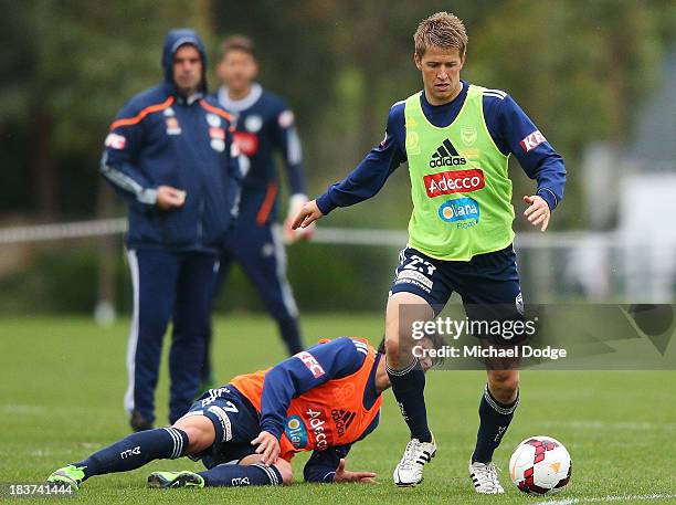
<svg viewBox="0 0 676 505">
<path fill-rule="evenodd" d="M 420 93 L 420 101 L 427 119 L 437 127 L 446 127 L 460 114 L 469 84 L 452 102 L 434 106 Z M 542 197 L 550 209 L 563 198 L 566 168 L 562 157 L 545 139 L 535 124 L 517 103 L 498 90 L 486 90 L 483 97 L 484 118 L 488 133 L 497 148 L 505 155 L 514 154 L 526 175 L 536 179 L 536 194 Z M 384 139 L 361 160 L 340 182 L 329 187 L 317 199 L 324 214 L 337 207 L 349 207 L 373 197 L 388 177 L 406 161 L 404 101 L 390 108 Z"/>
</svg>

